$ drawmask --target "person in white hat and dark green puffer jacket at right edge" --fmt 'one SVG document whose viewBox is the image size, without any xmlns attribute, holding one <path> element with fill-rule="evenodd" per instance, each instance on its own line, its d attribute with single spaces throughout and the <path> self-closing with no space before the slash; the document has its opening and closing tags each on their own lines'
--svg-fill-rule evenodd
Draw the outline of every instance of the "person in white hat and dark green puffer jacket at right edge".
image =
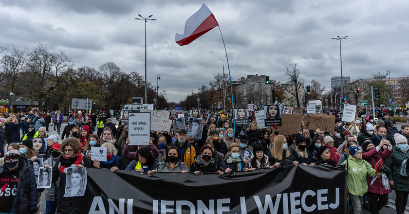
<svg viewBox="0 0 409 214">
<path fill-rule="evenodd" d="M 408 202 L 409 179 L 406 176 L 402 176 L 400 171 L 402 170 L 402 161 L 409 158 L 409 146 L 408 139 L 401 134 L 396 133 L 394 140 L 396 145 L 393 146 L 393 152 L 385 160 L 385 164 L 390 169 L 388 174 L 389 184 L 396 193 L 396 213 L 403 214 Z"/>
</svg>

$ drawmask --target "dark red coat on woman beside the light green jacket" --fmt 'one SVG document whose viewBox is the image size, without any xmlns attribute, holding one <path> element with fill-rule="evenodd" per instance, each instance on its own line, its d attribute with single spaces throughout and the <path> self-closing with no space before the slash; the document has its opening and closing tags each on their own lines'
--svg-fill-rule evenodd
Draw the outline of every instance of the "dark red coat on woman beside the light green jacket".
<svg viewBox="0 0 409 214">
<path fill-rule="evenodd" d="M 385 160 L 392 154 L 392 150 L 386 149 L 385 151 L 376 151 L 376 147 L 372 148 L 368 152 L 364 152 L 362 154 L 362 159 L 368 161 L 371 165 L 372 168 L 375 168 L 375 164 L 381 160 L 381 164 L 385 164 Z M 368 177 L 368 192 L 370 193 L 375 193 L 378 195 L 383 195 L 383 194 L 388 194 L 392 192 L 391 188 L 385 189 L 384 184 L 382 183 L 382 177 L 376 178 L 375 181 L 373 181 L 373 184 L 371 184 L 373 177 Z"/>
</svg>

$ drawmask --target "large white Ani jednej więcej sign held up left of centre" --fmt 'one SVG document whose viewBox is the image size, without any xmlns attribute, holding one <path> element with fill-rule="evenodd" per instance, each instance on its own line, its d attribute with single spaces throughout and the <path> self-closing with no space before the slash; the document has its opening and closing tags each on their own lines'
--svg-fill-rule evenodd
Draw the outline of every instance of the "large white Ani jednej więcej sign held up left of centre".
<svg viewBox="0 0 409 214">
<path fill-rule="evenodd" d="M 128 138 L 130 145 L 149 145 L 150 120 L 149 112 L 129 113 Z"/>
</svg>

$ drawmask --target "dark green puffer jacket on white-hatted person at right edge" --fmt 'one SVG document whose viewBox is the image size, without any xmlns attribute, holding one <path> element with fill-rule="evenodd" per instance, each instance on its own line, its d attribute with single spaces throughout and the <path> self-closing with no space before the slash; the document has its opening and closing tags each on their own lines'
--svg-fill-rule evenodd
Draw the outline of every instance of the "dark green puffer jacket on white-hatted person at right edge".
<svg viewBox="0 0 409 214">
<path fill-rule="evenodd" d="M 409 192 L 409 178 L 399 174 L 402 161 L 409 158 L 409 151 L 402 152 L 397 146 L 393 146 L 393 152 L 389 158 L 385 160 L 386 166 L 390 169 L 388 179 L 393 181 L 392 189 L 395 191 Z"/>
</svg>

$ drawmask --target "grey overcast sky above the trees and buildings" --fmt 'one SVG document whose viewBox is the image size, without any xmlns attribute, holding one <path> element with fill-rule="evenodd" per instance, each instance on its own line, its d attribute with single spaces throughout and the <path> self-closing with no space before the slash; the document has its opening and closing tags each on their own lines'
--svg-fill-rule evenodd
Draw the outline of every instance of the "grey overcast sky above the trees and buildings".
<svg viewBox="0 0 409 214">
<path fill-rule="evenodd" d="M 166 3 L 168 2 L 168 3 Z M 342 68 L 351 79 L 391 71 L 409 74 L 409 1 L 328 0 L 0 0 L 0 43 L 63 49 L 75 67 L 114 62 L 122 71 L 145 72 L 147 24 L 148 81 L 179 102 L 208 86 L 223 71 L 226 57 L 219 29 L 186 46 L 175 43 L 185 21 L 205 3 L 219 22 L 232 80 L 247 74 L 286 82 L 285 66 L 297 62 L 306 85 L 316 79 L 331 88 Z M 227 66 L 225 66 L 227 73 Z"/>
</svg>

